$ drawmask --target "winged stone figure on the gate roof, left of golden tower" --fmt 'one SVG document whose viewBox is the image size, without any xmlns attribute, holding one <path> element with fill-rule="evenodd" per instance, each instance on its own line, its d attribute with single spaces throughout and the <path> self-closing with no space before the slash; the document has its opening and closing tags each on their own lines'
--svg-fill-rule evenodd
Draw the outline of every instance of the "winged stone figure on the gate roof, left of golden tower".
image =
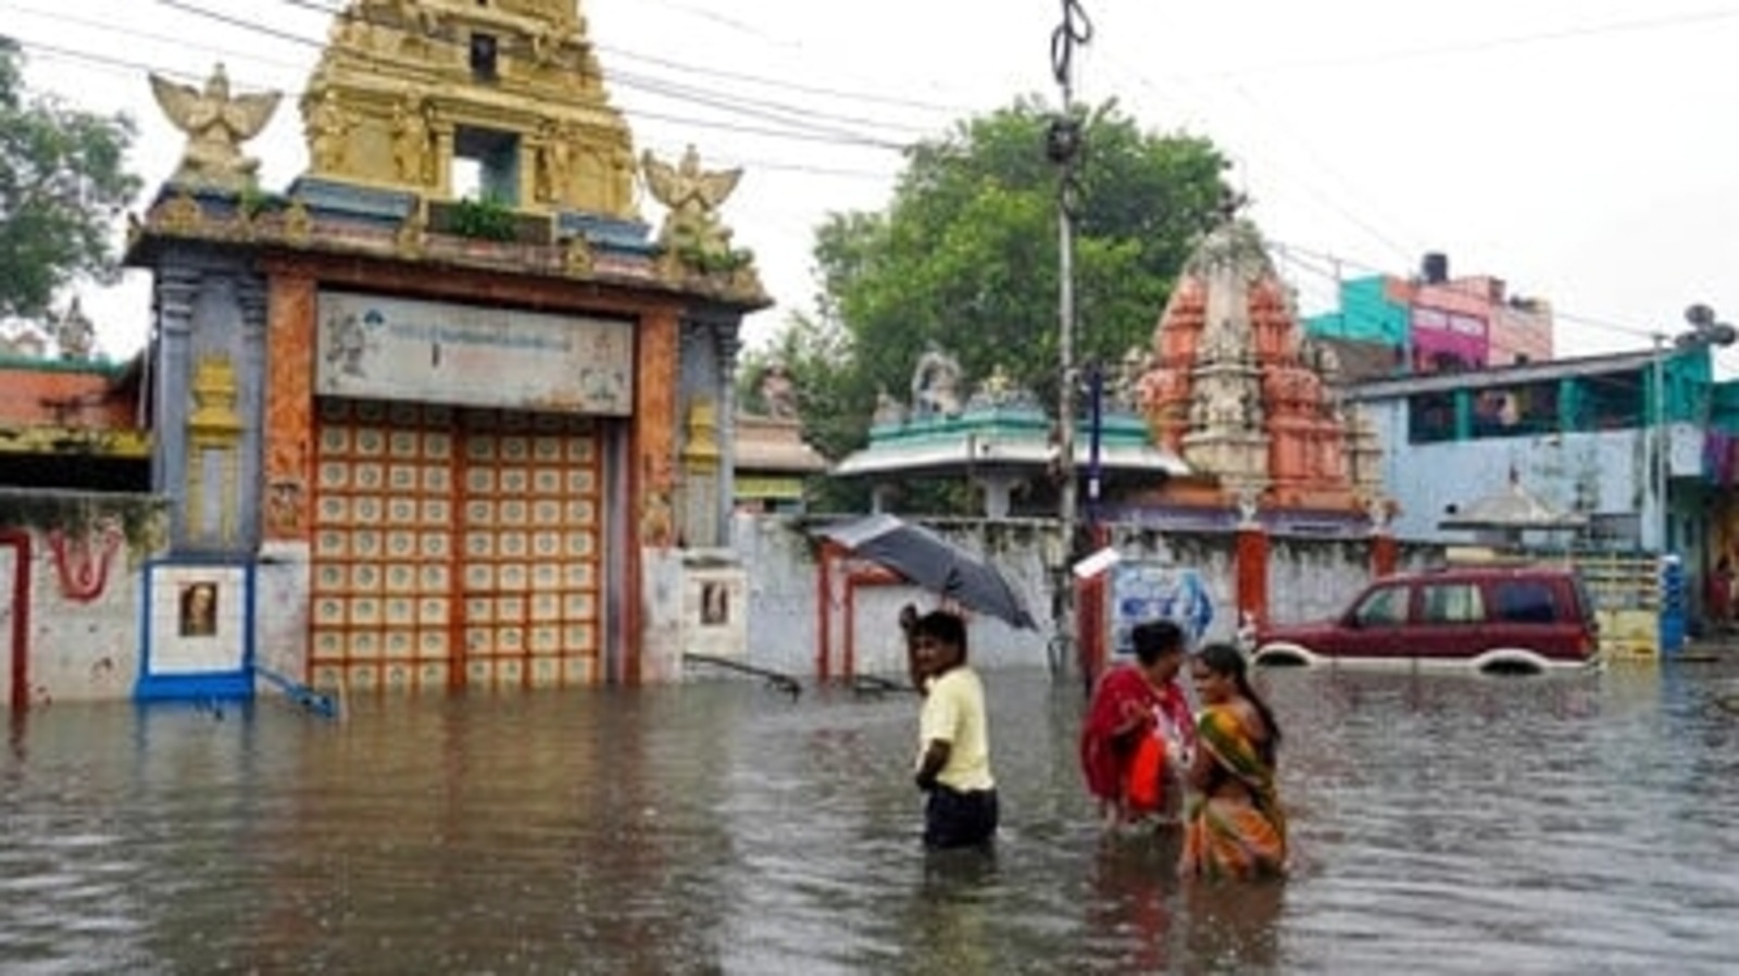
<svg viewBox="0 0 1739 976">
<path fill-rule="evenodd" d="M 282 92 L 231 96 L 230 77 L 217 63 L 203 90 L 153 73 L 151 94 L 163 115 L 188 136 L 170 183 L 231 191 L 254 184 L 259 160 L 243 157 L 242 143 L 266 127 Z"/>
</svg>

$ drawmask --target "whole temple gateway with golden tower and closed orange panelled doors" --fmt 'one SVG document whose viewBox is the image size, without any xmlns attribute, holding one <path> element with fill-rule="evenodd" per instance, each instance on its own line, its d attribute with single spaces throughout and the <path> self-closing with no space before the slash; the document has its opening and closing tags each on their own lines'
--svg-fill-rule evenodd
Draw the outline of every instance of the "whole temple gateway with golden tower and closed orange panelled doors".
<svg viewBox="0 0 1739 976">
<path fill-rule="evenodd" d="M 741 567 L 692 557 L 727 552 L 730 376 L 770 304 L 720 217 L 741 172 L 636 155 L 576 0 L 351 0 L 283 190 L 243 153 L 278 94 L 151 84 L 188 141 L 127 251 L 172 508 L 141 696 L 739 652 Z"/>
</svg>

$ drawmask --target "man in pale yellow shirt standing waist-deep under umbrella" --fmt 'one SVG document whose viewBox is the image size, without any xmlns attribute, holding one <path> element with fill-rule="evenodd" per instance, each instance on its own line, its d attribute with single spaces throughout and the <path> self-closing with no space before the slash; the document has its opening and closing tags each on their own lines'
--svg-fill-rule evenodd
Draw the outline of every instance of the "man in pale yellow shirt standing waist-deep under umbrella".
<svg viewBox="0 0 1739 976">
<path fill-rule="evenodd" d="M 930 611 L 911 625 L 920 685 L 918 769 L 925 793 L 923 846 L 989 847 L 996 835 L 996 779 L 989 771 L 989 713 L 984 684 L 967 666 L 967 625 Z"/>
</svg>

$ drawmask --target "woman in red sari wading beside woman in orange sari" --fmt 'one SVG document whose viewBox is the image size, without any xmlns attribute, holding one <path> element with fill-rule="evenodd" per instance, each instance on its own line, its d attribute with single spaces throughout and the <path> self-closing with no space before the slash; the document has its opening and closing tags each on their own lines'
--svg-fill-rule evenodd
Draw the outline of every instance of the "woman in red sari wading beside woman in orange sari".
<svg viewBox="0 0 1739 976">
<path fill-rule="evenodd" d="M 1136 625 L 1136 661 L 1099 679 L 1082 724 L 1087 792 L 1108 826 L 1177 823 L 1183 771 L 1195 748 L 1189 699 L 1177 684 L 1184 632 L 1169 619 Z"/>
</svg>

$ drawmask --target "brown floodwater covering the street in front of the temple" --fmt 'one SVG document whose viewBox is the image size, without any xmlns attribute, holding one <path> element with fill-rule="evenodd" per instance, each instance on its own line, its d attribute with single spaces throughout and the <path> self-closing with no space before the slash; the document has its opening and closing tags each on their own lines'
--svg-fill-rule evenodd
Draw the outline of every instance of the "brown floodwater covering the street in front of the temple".
<svg viewBox="0 0 1739 976">
<path fill-rule="evenodd" d="M 988 675 L 995 858 L 927 858 L 916 699 L 753 680 L 49 706 L 0 753 L 0 973 L 1732 973 L 1739 663 L 1269 672 L 1296 870 L 1106 840 L 1080 689 Z"/>
</svg>

